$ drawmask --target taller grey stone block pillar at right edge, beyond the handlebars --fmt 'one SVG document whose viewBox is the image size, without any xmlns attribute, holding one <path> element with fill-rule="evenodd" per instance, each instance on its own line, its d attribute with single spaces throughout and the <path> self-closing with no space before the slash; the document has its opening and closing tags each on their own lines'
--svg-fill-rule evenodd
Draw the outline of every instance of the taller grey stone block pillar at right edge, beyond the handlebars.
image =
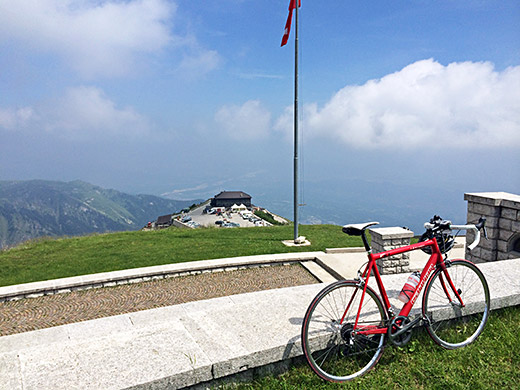
<svg viewBox="0 0 520 390">
<path fill-rule="evenodd" d="M 464 194 L 468 201 L 468 223 L 477 223 L 486 218 L 488 239 L 482 235 L 480 244 L 469 251 L 466 259 L 475 263 L 497 261 L 520 257 L 520 196 L 507 192 L 479 192 Z M 475 238 L 468 230 L 466 246 Z"/>
</svg>

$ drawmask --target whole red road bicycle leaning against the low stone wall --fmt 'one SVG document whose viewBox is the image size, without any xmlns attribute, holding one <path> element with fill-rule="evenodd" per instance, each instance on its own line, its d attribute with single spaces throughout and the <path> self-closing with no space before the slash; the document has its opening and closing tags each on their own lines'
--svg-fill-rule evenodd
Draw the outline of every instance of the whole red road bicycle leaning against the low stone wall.
<svg viewBox="0 0 520 390">
<path fill-rule="evenodd" d="M 324 288 L 311 302 L 302 326 L 302 348 L 311 368 L 321 378 L 345 382 L 369 371 L 378 362 L 388 340 L 405 345 L 412 328 L 423 324 L 429 335 L 447 349 L 464 347 L 480 335 L 489 315 L 489 287 L 482 272 L 463 259 L 448 260 L 454 244 L 452 230 L 474 230 L 474 249 L 485 230 L 485 219 L 476 225 L 452 225 L 435 216 L 416 244 L 372 253 L 366 229 L 377 222 L 346 225 L 343 232 L 361 236 L 368 263 L 354 280 L 340 280 Z M 415 291 L 399 313 L 390 304 L 376 260 L 422 249 L 431 256 L 422 270 Z M 379 290 L 369 286 L 374 276 Z M 422 310 L 410 312 L 421 294 Z M 414 317 L 414 318 L 412 318 Z"/>
</svg>

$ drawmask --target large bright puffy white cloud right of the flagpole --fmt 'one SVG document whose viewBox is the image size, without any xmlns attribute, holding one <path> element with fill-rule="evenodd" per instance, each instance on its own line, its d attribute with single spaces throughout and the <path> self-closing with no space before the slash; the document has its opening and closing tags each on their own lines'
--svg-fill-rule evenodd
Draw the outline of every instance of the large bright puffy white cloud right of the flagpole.
<svg viewBox="0 0 520 390">
<path fill-rule="evenodd" d="M 489 62 L 418 61 L 303 111 L 307 134 L 358 148 L 518 147 L 520 66 L 498 72 Z M 292 129 L 290 115 L 275 127 Z"/>
</svg>

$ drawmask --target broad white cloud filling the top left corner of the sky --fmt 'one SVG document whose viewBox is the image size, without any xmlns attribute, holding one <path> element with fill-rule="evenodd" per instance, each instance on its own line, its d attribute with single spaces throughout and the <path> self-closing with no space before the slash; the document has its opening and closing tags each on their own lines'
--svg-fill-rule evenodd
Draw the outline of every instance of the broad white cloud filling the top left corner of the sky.
<svg viewBox="0 0 520 390">
<path fill-rule="evenodd" d="M 132 73 L 167 47 L 214 56 L 172 33 L 176 9 L 167 0 L 0 0 L 0 41 L 58 55 L 87 78 Z"/>
</svg>

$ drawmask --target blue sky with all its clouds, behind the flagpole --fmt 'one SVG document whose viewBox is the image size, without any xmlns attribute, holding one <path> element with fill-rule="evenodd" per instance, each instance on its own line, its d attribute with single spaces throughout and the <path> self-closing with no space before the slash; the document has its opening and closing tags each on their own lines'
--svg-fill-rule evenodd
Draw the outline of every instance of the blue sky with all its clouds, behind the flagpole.
<svg viewBox="0 0 520 390">
<path fill-rule="evenodd" d="M 288 3 L 0 0 L 0 180 L 241 189 L 290 217 Z M 300 11 L 303 197 L 355 180 L 520 192 L 518 1 Z"/>
</svg>

